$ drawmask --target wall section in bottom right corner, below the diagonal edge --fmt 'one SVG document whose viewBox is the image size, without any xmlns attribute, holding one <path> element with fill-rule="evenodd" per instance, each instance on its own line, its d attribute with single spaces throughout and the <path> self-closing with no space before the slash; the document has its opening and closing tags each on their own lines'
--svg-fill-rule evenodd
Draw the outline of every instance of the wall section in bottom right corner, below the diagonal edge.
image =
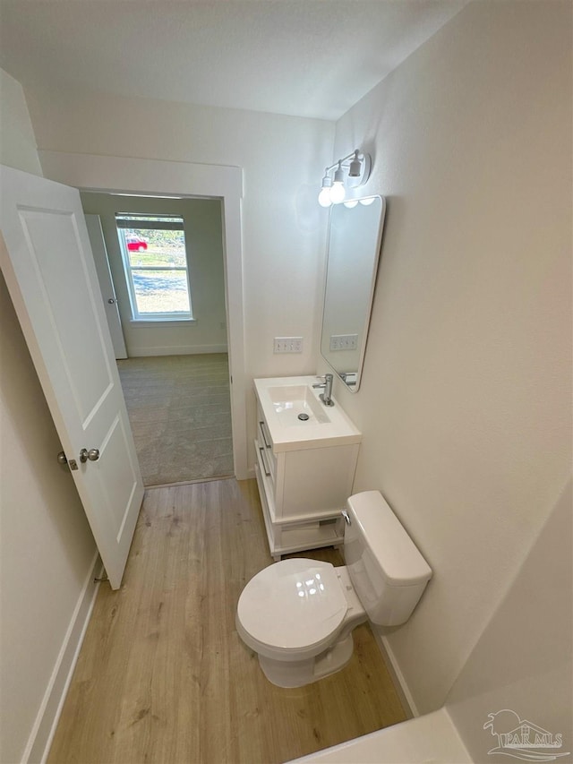
<svg viewBox="0 0 573 764">
<path fill-rule="evenodd" d="M 508 760 L 503 753 L 487 755 L 497 740 L 483 729 L 503 708 L 561 734 L 555 752 L 573 752 L 572 502 L 569 478 L 449 693 L 449 714 L 474 761 Z"/>
</svg>

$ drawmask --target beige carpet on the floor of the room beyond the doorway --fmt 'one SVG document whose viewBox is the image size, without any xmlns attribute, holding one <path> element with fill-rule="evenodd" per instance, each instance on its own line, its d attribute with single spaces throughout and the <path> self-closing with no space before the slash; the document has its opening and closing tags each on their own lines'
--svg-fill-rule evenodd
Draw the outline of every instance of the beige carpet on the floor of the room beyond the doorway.
<svg viewBox="0 0 573 764">
<path fill-rule="evenodd" d="M 144 485 L 234 474 L 226 353 L 117 361 Z"/>
</svg>

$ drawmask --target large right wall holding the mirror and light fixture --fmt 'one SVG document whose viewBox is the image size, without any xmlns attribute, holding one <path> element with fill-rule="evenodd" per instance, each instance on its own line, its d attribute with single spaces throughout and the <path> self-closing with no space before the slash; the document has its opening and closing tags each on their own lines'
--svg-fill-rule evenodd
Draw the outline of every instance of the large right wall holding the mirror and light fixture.
<svg viewBox="0 0 573 764">
<path fill-rule="evenodd" d="M 571 468 L 570 64 L 569 3 L 472 3 L 337 124 L 388 212 L 362 387 L 334 392 L 363 431 L 355 490 L 381 489 L 434 571 L 387 635 L 422 713 Z"/>
</svg>

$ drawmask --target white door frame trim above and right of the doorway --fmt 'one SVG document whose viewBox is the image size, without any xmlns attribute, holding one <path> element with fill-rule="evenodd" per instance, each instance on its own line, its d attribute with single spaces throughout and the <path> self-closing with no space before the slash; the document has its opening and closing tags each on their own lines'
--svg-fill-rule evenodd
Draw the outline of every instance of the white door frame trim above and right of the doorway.
<svg viewBox="0 0 573 764">
<path fill-rule="evenodd" d="M 235 476 L 246 479 L 246 377 L 244 357 L 243 245 L 241 203 L 243 169 L 159 159 L 101 157 L 39 150 L 44 176 L 80 191 L 150 193 L 221 200 L 227 342 L 231 380 L 231 419 Z"/>
</svg>

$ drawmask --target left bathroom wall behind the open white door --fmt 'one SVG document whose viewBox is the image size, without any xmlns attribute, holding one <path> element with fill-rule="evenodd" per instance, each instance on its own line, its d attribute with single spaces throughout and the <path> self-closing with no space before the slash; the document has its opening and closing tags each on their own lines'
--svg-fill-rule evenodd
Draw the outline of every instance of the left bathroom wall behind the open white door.
<svg viewBox="0 0 573 764">
<path fill-rule="evenodd" d="M 2 162 L 41 175 L 21 87 L 0 75 Z M 47 742 L 96 547 L 3 277 L 0 347 L 0 760 L 13 762 Z"/>
</svg>

